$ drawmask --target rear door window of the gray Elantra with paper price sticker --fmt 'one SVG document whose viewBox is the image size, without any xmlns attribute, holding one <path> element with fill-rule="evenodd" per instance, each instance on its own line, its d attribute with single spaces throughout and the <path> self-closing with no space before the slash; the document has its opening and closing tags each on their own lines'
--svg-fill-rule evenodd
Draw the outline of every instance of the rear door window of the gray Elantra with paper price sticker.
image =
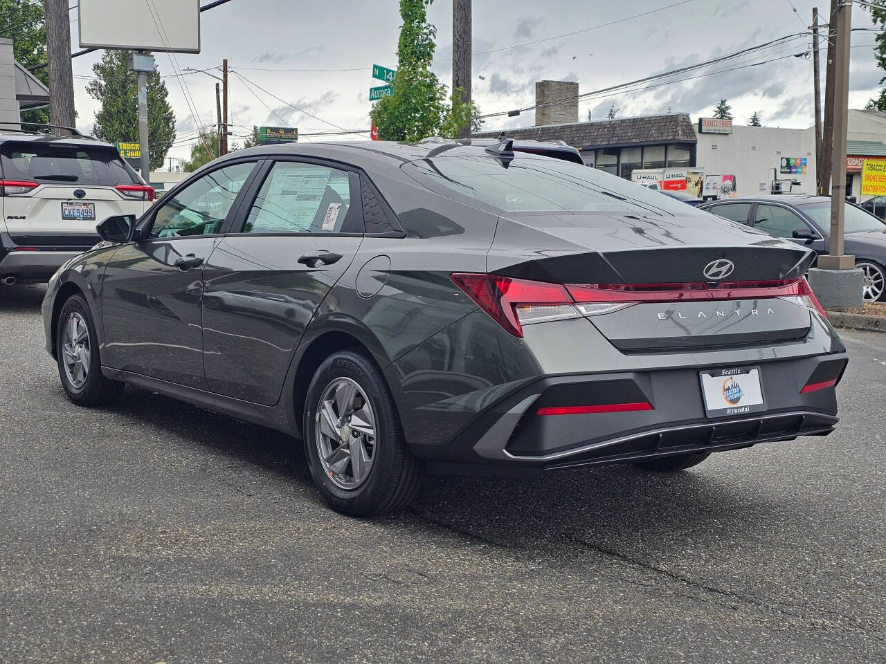
<svg viewBox="0 0 886 664">
<path fill-rule="evenodd" d="M 360 204 L 358 201 L 352 211 L 351 201 L 351 177 L 347 171 L 280 161 L 261 186 L 243 232 L 357 232 L 354 217 L 361 213 Z M 346 224 L 346 220 L 350 222 Z"/>
</svg>

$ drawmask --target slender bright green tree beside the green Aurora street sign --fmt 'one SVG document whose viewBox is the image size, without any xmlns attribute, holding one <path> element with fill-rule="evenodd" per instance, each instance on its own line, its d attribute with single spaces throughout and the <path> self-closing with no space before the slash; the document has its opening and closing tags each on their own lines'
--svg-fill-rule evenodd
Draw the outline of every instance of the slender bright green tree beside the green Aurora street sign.
<svg viewBox="0 0 886 664">
<path fill-rule="evenodd" d="M 447 103 L 447 87 L 431 72 L 437 28 L 427 20 L 433 0 L 400 0 L 400 41 L 397 75 L 391 97 L 379 99 L 369 116 L 382 141 L 420 141 L 427 136 L 455 138 L 459 127 L 472 122 L 475 105 L 462 100 L 461 88 Z"/>
</svg>

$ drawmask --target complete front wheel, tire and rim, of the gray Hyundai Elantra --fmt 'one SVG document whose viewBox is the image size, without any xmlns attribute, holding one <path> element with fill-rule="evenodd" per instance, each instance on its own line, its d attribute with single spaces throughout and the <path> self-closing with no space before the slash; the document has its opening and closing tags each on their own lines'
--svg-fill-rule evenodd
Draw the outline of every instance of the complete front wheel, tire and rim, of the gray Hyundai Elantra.
<svg viewBox="0 0 886 664">
<path fill-rule="evenodd" d="M 73 326 L 71 334 L 66 331 L 69 325 Z M 76 337 L 73 344 L 69 343 L 72 334 Z M 58 377 L 67 398 L 74 404 L 107 405 L 120 397 L 124 384 L 108 380 L 102 374 L 96 325 L 89 305 L 79 295 L 69 297 L 61 308 L 56 328 L 56 356 Z M 84 357 L 89 361 L 84 362 Z M 84 366 L 85 372 L 82 372 Z"/>
</svg>

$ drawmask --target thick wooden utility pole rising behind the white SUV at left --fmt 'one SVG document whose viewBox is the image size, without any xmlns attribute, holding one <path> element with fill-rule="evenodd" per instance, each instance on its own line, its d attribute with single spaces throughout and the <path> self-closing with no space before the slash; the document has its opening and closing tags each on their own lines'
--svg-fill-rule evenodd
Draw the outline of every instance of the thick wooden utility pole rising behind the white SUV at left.
<svg viewBox="0 0 886 664">
<path fill-rule="evenodd" d="M 71 68 L 71 24 L 67 0 L 44 0 L 46 61 L 50 80 L 50 122 L 74 127 L 74 72 Z M 55 133 L 66 135 L 58 129 Z"/>
</svg>

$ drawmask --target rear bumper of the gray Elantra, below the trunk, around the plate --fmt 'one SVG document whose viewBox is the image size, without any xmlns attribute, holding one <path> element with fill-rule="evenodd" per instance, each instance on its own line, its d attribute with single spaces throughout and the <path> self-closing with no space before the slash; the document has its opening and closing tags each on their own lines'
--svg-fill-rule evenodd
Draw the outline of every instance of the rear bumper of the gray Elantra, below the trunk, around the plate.
<svg viewBox="0 0 886 664">
<path fill-rule="evenodd" d="M 449 444 L 413 449 L 438 472 L 471 466 L 537 472 L 826 436 L 838 421 L 834 387 L 801 390 L 839 380 L 847 362 L 845 353 L 831 353 L 762 363 L 766 411 L 727 417 L 704 412 L 698 372 L 708 367 L 548 376 L 502 399 Z M 649 410 L 538 414 L 551 405 L 644 401 Z"/>
</svg>

